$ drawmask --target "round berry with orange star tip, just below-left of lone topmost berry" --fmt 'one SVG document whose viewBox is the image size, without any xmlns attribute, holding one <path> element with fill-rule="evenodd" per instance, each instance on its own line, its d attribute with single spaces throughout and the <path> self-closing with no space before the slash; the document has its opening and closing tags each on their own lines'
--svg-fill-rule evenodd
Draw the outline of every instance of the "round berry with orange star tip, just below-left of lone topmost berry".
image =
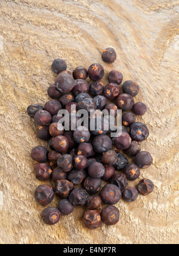
<svg viewBox="0 0 179 256">
<path fill-rule="evenodd" d="M 101 80 L 104 77 L 104 68 L 99 63 L 94 63 L 88 68 L 88 74 L 92 81 Z"/>
</svg>

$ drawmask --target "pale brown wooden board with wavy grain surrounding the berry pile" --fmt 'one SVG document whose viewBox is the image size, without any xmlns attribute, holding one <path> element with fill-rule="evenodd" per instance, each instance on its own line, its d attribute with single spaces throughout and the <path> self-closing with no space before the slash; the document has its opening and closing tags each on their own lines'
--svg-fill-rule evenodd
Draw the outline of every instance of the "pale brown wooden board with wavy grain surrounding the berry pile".
<svg viewBox="0 0 179 256">
<path fill-rule="evenodd" d="M 179 242 L 178 10 L 178 0 L 1 0 L 0 243 Z M 26 108 L 48 100 L 55 57 L 72 71 L 103 63 L 101 51 L 109 46 L 118 59 L 104 65 L 106 74 L 118 69 L 124 80 L 137 81 L 141 90 L 135 100 L 148 108 L 137 120 L 149 126 L 142 148 L 154 163 L 141 178 L 152 179 L 155 191 L 131 204 L 120 202 L 115 226 L 90 231 L 79 208 L 48 227 L 33 199 L 42 182 L 30 159 L 33 147 L 47 144 L 36 138 Z"/>
</svg>

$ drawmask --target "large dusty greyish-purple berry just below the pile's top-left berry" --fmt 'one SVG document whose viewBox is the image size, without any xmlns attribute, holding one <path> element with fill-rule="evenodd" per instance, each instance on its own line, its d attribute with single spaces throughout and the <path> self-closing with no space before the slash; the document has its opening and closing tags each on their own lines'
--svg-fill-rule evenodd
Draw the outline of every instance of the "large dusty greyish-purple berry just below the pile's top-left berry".
<svg viewBox="0 0 179 256">
<path fill-rule="evenodd" d="M 55 86 L 60 93 L 69 93 L 75 86 L 75 80 L 73 79 L 72 75 L 63 72 L 58 75 L 55 81 Z"/>
</svg>

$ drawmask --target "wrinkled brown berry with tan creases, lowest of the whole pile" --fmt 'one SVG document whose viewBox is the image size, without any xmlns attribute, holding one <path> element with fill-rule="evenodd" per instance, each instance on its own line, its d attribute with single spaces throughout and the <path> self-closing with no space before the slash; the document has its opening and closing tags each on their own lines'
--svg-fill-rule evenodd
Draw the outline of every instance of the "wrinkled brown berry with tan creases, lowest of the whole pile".
<svg viewBox="0 0 179 256">
<path fill-rule="evenodd" d="M 95 229 L 101 225 L 100 212 L 98 210 L 87 210 L 84 212 L 82 220 L 88 228 Z"/>
</svg>

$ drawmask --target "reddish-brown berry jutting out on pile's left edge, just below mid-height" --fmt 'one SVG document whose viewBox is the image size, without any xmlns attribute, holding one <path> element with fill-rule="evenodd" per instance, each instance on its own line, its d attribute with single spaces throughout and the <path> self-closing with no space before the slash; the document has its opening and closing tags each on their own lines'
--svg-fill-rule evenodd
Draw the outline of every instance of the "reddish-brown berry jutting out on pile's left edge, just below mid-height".
<svg viewBox="0 0 179 256">
<path fill-rule="evenodd" d="M 48 155 L 48 150 L 43 146 L 35 147 L 31 151 L 32 159 L 35 161 L 38 161 L 39 163 L 45 163 L 45 161 L 47 161 L 47 155 Z"/>
</svg>

